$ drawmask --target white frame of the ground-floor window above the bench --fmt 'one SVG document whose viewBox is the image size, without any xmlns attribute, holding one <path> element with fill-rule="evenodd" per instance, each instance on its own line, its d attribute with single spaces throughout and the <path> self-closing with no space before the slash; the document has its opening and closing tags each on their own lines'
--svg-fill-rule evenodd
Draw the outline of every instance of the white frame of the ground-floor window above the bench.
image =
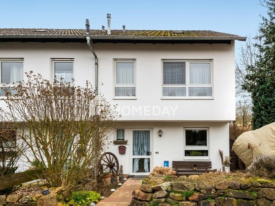
<svg viewBox="0 0 275 206">
<path fill-rule="evenodd" d="M 186 130 L 206 130 L 207 146 L 187 146 L 186 145 Z M 209 160 L 210 159 L 210 141 L 209 141 L 210 128 L 183 128 L 183 159 L 191 160 Z M 208 156 L 185 156 L 185 150 L 208 150 Z"/>
</svg>

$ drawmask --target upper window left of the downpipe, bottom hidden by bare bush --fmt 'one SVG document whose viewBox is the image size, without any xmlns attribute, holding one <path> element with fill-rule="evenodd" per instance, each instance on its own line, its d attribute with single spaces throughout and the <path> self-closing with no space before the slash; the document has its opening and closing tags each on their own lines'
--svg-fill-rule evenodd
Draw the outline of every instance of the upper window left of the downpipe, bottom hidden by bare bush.
<svg viewBox="0 0 275 206">
<path fill-rule="evenodd" d="M 73 59 L 52 59 L 53 78 L 58 81 L 72 83 Z"/>
</svg>

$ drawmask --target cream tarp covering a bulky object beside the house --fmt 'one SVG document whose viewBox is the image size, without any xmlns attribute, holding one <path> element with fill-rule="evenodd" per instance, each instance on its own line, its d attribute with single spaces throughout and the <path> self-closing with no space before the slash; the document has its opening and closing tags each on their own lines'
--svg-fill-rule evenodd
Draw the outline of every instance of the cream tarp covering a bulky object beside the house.
<svg viewBox="0 0 275 206">
<path fill-rule="evenodd" d="M 275 154 L 275 122 L 257 130 L 244 132 L 234 142 L 234 152 L 246 166 L 260 154 Z"/>
</svg>

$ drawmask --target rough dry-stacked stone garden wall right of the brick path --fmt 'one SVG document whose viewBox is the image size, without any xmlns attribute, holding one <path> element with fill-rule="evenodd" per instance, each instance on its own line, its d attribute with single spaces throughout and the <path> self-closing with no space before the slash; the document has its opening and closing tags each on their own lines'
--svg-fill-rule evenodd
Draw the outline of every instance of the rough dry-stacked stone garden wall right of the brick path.
<svg viewBox="0 0 275 206">
<path fill-rule="evenodd" d="M 151 177 L 143 180 L 139 190 L 133 191 L 131 206 L 234 206 L 274 205 L 275 184 L 261 181 L 246 183 L 220 182 L 209 184 L 190 181 L 193 176 L 170 179 Z M 166 179 L 166 180 L 165 180 Z"/>
</svg>

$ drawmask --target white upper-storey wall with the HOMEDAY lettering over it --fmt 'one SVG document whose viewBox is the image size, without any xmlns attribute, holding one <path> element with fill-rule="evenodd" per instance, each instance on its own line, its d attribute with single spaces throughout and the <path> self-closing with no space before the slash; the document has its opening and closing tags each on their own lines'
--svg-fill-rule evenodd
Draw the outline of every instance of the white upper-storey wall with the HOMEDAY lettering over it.
<svg viewBox="0 0 275 206">
<path fill-rule="evenodd" d="M 230 121 L 235 119 L 234 44 L 95 44 L 99 92 L 120 107 L 120 120 Z M 51 58 L 74 58 L 76 85 L 94 85 L 94 57 L 81 43 L 0 43 L 0 58 L 24 58 L 24 71 L 51 78 Z M 113 59 L 136 59 L 135 100 L 113 99 Z M 164 100 L 161 59 L 213 59 L 213 96 L 207 100 Z M 3 101 L 2 102 L 3 105 Z M 1 105 L 1 104 L 0 104 Z M 158 108 L 156 108 L 158 107 Z M 135 111 L 133 109 L 140 109 Z"/>
</svg>

